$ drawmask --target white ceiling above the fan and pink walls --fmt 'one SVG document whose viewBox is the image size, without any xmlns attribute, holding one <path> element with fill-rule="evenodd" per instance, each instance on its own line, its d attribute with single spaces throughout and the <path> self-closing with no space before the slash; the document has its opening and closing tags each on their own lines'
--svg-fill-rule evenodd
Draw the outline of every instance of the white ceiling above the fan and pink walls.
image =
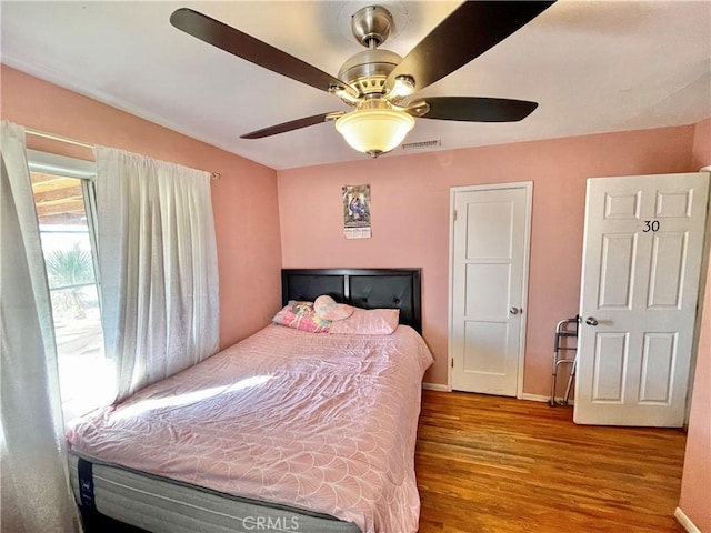
<svg viewBox="0 0 711 533">
<path fill-rule="evenodd" d="M 339 99 L 206 44 L 169 23 L 190 7 L 333 76 L 363 48 L 363 1 L 2 1 L 2 62 L 273 169 L 367 159 L 333 123 L 240 134 L 336 110 Z M 387 0 L 383 48 L 405 56 L 459 2 Z M 711 2 L 558 3 L 468 66 L 415 93 L 539 102 L 518 123 L 418 119 L 405 142 L 437 150 L 697 123 L 711 115 Z M 412 151 L 414 152 L 414 150 Z M 395 149 L 383 157 L 412 153 Z"/>
</svg>

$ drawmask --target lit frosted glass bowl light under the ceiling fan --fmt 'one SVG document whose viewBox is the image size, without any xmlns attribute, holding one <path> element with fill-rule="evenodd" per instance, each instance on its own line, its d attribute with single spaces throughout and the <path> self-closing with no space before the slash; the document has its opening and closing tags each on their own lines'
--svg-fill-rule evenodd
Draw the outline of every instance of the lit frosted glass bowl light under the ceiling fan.
<svg viewBox="0 0 711 533">
<path fill-rule="evenodd" d="M 373 158 L 399 147 L 413 127 L 410 114 L 393 109 L 358 109 L 336 121 L 336 129 L 353 150 Z"/>
</svg>

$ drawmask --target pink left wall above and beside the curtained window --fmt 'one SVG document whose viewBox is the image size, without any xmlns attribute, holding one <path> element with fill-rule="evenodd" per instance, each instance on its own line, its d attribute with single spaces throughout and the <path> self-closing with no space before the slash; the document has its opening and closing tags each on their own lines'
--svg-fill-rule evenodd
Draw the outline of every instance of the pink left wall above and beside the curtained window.
<svg viewBox="0 0 711 533">
<path fill-rule="evenodd" d="M 276 171 L 6 66 L 1 92 L 2 118 L 18 124 L 220 172 L 222 179 L 212 182 L 220 345 L 228 346 L 269 322 L 281 303 Z M 92 159 L 88 149 L 31 135 L 28 147 Z"/>
</svg>

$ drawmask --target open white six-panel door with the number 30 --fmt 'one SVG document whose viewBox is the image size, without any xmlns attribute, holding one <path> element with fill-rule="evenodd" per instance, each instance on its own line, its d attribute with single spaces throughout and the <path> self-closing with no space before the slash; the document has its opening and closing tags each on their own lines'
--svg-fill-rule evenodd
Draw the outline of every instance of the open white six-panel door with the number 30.
<svg viewBox="0 0 711 533">
<path fill-rule="evenodd" d="M 709 174 L 588 180 L 574 421 L 684 422 Z"/>
</svg>

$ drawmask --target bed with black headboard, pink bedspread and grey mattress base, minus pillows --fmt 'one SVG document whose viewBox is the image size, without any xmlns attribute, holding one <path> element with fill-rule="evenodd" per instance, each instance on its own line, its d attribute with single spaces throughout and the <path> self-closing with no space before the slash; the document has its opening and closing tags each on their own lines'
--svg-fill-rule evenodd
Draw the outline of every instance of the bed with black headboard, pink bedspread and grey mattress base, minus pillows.
<svg viewBox="0 0 711 533">
<path fill-rule="evenodd" d="M 88 530 L 116 520 L 156 533 L 415 532 L 414 444 L 432 363 L 420 270 L 282 271 L 284 310 L 323 295 L 358 312 L 397 309 L 400 325 L 351 334 L 272 323 L 73 422 L 70 481 Z"/>
</svg>

